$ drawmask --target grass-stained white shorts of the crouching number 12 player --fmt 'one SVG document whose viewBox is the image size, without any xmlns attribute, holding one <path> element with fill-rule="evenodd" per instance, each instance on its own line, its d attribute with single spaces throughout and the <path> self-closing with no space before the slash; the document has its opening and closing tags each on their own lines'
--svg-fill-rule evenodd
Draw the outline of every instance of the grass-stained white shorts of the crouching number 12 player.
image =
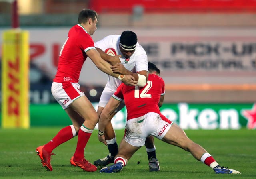
<svg viewBox="0 0 256 179">
<path fill-rule="evenodd" d="M 172 121 L 159 114 L 149 112 L 144 116 L 129 119 L 125 126 L 124 140 L 132 146 L 144 146 L 146 137 L 162 139 L 172 126 Z"/>
</svg>

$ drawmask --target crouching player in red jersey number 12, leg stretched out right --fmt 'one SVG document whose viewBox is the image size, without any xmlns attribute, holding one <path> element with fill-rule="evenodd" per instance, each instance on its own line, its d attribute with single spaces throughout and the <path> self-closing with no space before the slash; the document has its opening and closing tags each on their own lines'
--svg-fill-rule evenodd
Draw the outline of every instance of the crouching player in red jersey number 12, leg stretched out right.
<svg viewBox="0 0 256 179">
<path fill-rule="evenodd" d="M 147 85 L 138 87 L 121 84 L 102 111 L 98 123 L 98 138 L 105 145 L 106 141 L 103 134 L 109 122 L 109 116 L 122 100 L 124 100 L 127 108 L 127 124 L 125 136 L 114 159 L 115 164 L 102 168 L 100 173 L 121 171 L 132 155 L 141 146 L 144 146 L 146 137 L 155 136 L 164 142 L 189 151 L 195 159 L 208 165 L 215 173 L 239 174 L 240 172 L 234 169 L 220 167 L 202 146 L 190 140 L 177 124 L 161 114 L 158 103 L 160 96 L 165 94 L 164 80 L 158 75 L 152 74 L 152 68 L 157 69 L 154 64 L 149 62 L 150 74 L 148 75 Z"/>
</svg>

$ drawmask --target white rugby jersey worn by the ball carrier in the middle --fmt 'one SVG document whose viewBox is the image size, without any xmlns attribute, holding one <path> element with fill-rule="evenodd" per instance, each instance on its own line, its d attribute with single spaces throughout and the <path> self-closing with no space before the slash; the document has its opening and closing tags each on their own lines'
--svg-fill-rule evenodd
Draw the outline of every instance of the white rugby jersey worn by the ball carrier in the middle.
<svg viewBox="0 0 256 179">
<path fill-rule="evenodd" d="M 100 41 L 94 43 L 94 46 L 102 49 L 103 51 L 108 48 L 113 48 L 115 49 L 117 55 L 122 55 L 119 49 L 120 36 L 121 35 L 108 35 Z M 146 55 L 146 51 L 138 42 L 134 54 L 132 54 L 129 59 L 125 59 L 125 57 L 122 55 L 120 61 L 126 69 L 132 71 L 133 73 L 137 73 L 142 70 L 148 71 L 148 56 Z M 106 87 L 109 87 L 113 90 L 113 92 L 115 92 L 121 83 L 122 81 L 120 79 L 108 75 Z"/>
</svg>

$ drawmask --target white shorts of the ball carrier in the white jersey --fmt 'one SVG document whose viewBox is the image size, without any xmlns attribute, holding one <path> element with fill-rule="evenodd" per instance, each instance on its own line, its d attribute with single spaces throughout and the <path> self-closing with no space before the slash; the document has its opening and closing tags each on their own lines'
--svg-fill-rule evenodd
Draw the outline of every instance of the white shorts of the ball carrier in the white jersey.
<svg viewBox="0 0 256 179">
<path fill-rule="evenodd" d="M 99 107 L 105 108 L 106 104 L 108 103 L 109 99 L 112 97 L 115 91 L 110 89 L 109 87 L 105 87 L 102 91 L 102 94 L 100 96 L 100 102 L 98 104 Z M 124 100 L 121 102 L 121 104 L 118 106 L 118 108 L 115 110 L 115 112 L 120 111 L 122 108 L 124 108 Z"/>
</svg>

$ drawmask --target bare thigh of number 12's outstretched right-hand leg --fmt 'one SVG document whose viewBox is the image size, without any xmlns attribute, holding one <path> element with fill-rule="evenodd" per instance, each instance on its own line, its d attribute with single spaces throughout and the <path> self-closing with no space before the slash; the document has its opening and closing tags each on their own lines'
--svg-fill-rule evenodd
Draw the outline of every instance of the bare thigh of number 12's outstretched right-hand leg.
<svg viewBox="0 0 256 179">
<path fill-rule="evenodd" d="M 180 148 L 185 148 L 191 140 L 187 137 L 184 130 L 182 130 L 182 128 L 174 123 L 162 138 L 162 141 L 178 146 Z"/>
</svg>

